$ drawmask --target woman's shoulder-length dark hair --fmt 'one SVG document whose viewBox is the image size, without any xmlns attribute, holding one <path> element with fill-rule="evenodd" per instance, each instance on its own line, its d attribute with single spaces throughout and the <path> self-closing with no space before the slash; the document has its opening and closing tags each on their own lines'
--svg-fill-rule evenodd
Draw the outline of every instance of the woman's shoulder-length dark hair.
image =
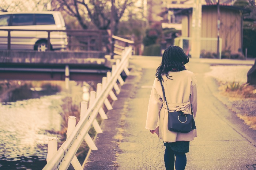
<svg viewBox="0 0 256 170">
<path fill-rule="evenodd" d="M 172 69 L 179 68 L 188 62 L 189 58 L 181 47 L 169 46 L 165 49 L 165 52 L 163 52 L 162 62 L 157 68 L 157 73 L 155 73 L 155 76 L 157 76 L 159 81 L 163 80 L 163 75 L 171 79 L 170 77 L 172 76 L 169 76 L 169 72 Z"/>
</svg>

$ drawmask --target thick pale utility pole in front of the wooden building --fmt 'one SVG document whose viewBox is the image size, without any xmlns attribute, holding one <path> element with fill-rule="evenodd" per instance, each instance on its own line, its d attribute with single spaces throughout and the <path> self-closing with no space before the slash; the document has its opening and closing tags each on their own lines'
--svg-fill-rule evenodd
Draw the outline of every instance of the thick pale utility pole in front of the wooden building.
<svg viewBox="0 0 256 170">
<path fill-rule="evenodd" d="M 200 58 L 201 52 L 201 22 L 202 22 L 202 3 L 201 0 L 194 0 L 192 12 L 192 40 L 191 57 Z"/>
</svg>

